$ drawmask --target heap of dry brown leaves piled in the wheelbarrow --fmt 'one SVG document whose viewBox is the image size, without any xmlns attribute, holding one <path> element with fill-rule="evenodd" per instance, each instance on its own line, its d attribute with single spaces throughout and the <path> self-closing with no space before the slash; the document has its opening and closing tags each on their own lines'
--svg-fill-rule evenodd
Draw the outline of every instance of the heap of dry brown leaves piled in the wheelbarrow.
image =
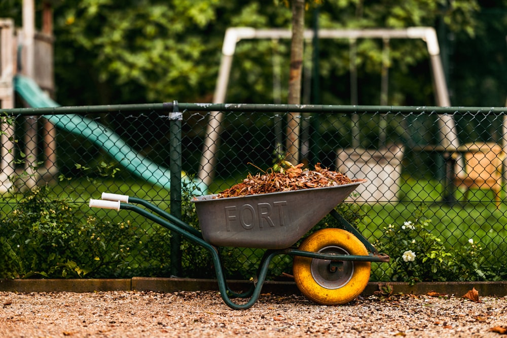
<svg viewBox="0 0 507 338">
<path fill-rule="evenodd" d="M 315 170 L 302 169 L 303 164 L 289 166 L 279 172 L 269 170 L 256 175 L 248 174 L 243 182 L 218 194 L 215 198 L 238 197 L 255 194 L 276 193 L 299 189 L 335 186 L 356 182 L 346 175 L 321 168 L 320 163 L 315 165 Z"/>
</svg>

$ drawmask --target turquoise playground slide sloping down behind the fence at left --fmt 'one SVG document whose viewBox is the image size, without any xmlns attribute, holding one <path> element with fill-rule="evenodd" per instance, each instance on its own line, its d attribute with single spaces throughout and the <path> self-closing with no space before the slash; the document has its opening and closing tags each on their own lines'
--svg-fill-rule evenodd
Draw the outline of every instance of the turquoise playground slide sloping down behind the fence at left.
<svg viewBox="0 0 507 338">
<path fill-rule="evenodd" d="M 16 76 L 14 88 L 31 107 L 42 108 L 60 106 L 43 92 L 30 78 L 19 75 Z M 86 139 L 93 142 L 95 145 L 105 149 L 105 151 L 117 160 L 120 165 L 136 176 L 152 184 L 158 184 L 168 190 L 170 189 L 169 170 L 139 155 L 111 129 L 106 128 L 94 120 L 76 114 L 46 115 L 44 118 L 60 129 L 86 137 Z M 182 179 L 190 182 L 188 176 L 183 172 Z M 196 184 L 201 191 L 193 192 L 194 195 L 206 193 L 207 189 L 203 184 L 198 184 L 197 182 Z"/>
</svg>

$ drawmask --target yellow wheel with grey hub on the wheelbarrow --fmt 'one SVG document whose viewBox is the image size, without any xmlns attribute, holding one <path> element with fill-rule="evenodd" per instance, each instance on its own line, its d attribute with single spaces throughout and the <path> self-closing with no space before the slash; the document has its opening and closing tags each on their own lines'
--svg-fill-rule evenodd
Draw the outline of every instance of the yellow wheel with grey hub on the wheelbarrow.
<svg viewBox="0 0 507 338">
<path fill-rule="evenodd" d="M 357 237 L 342 229 L 321 229 L 306 238 L 300 250 L 325 254 L 368 255 Z M 346 304 L 370 279 L 371 262 L 338 261 L 295 256 L 294 279 L 303 295 L 322 305 Z"/>
</svg>

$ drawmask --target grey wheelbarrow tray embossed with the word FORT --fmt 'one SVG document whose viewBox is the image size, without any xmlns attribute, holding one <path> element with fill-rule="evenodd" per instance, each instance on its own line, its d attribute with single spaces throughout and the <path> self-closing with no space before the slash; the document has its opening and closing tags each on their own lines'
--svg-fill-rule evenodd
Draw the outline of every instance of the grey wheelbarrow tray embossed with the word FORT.
<svg viewBox="0 0 507 338">
<path fill-rule="evenodd" d="M 207 195 L 193 202 L 208 243 L 284 249 L 301 239 L 359 184 L 229 198 Z"/>
</svg>

